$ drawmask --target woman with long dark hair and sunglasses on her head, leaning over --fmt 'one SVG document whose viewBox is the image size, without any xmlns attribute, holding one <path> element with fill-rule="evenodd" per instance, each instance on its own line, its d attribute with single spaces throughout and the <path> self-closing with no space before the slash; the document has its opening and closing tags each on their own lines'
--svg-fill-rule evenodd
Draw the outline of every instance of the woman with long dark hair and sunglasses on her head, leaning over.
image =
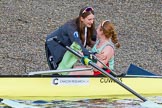
<svg viewBox="0 0 162 108">
<path fill-rule="evenodd" d="M 67 46 L 71 46 L 73 42 L 76 42 L 80 45 L 83 54 L 89 56 L 86 46 L 92 47 L 96 40 L 94 9 L 92 7 L 82 8 L 77 18 L 68 21 L 47 36 L 45 49 L 51 70 L 57 69 L 66 52 L 65 48 L 52 40 L 54 37 L 57 37 Z"/>
</svg>

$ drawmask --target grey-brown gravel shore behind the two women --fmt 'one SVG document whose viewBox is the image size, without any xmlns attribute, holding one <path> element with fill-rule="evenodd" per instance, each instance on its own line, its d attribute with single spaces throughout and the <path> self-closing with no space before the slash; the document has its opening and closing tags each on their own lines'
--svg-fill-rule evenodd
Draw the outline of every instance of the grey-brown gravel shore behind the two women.
<svg viewBox="0 0 162 108">
<path fill-rule="evenodd" d="M 46 35 L 93 6 L 96 26 L 110 19 L 121 48 L 115 70 L 135 64 L 162 74 L 161 0 L 0 0 L 0 74 L 49 70 Z"/>
</svg>

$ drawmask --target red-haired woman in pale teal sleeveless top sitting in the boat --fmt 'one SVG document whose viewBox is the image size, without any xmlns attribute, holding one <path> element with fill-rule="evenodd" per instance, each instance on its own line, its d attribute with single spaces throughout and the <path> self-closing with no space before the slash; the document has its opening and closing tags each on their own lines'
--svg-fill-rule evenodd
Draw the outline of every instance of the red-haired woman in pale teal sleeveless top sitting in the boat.
<svg viewBox="0 0 162 108">
<path fill-rule="evenodd" d="M 103 68 L 107 73 L 114 75 L 114 55 L 115 48 L 119 48 L 120 44 L 118 42 L 117 33 L 112 22 L 109 20 L 102 21 L 97 28 L 97 41 L 92 48 L 92 52 L 96 52 L 96 56 L 102 54 L 104 59 L 100 59 L 102 63 L 107 65 L 109 68 L 105 67 L 101 62 L 96 61 L 96 65 Z M 88 66 L 75 66 L 74 68 L 85 68 Z M 92 69 L 90 71 L 78 71 L 70 72 L 69 75 L 101 75 L 101 72 L 97 69 Z"/>
</svg>

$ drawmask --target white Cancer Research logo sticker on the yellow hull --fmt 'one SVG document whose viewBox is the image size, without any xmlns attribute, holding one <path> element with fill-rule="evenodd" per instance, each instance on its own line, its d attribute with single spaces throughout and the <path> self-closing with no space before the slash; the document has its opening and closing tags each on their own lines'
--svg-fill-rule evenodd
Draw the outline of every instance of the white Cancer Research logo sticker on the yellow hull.
<svg viewBox="0 0 162 108">
<path fill-rule="evenodd" d="M 53 78 L 53 85 L 88 85 L 89 78 Z"/>
</svg>

